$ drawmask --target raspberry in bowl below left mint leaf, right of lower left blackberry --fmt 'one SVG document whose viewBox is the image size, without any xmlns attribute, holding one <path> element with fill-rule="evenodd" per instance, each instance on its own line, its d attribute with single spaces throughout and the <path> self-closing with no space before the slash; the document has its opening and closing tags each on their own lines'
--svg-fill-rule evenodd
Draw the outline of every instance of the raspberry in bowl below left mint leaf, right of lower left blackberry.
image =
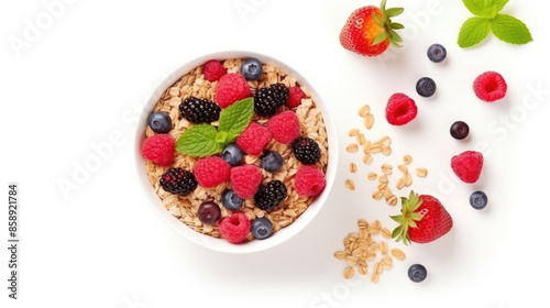
<svg viewBox="0 0 550 308">
<path fill-rule="evenodd" d="M 210 156 L 195 164 L 195 177 L 205 188 L 216 187 L 229 179 L 231 167 L 223 158 Z"/>
</svg>

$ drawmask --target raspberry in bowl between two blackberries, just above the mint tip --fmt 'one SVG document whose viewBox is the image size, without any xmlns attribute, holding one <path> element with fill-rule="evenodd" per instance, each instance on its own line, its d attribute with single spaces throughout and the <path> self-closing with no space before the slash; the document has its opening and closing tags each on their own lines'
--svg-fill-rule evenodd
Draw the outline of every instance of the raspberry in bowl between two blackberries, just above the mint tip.
<svg viewBox="0 0 550 308">
<path fill-rule="evenodd" d="M 250 87 L 241 74 L 228 74 L 220 78 L 215 100 L 221 108 L 248 97 L 250 97 Z"/>
</svg>

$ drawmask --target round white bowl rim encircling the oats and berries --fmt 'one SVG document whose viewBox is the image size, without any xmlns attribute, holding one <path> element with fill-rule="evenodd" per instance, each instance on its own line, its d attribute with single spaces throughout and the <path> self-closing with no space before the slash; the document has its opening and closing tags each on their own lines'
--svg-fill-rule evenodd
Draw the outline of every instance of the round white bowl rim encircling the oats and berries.
<svg viewBox="0 0 550 308">
<path fill-rule="evenodd" d="M 161 98 L 162 94 L 166 90 L 167 87 L 173 85 L 175 81 L 177 81 L 183 75 L 188 73 L 189 70 L 194 69 L 195 67 L 205 64 L 209 59 L 227 59 L 227 58 L 246 58 L 246 57 L 254 57 L 257 58 L 260 62 L 265 63 L 265 64 L 272 64 L 276 67 L 279 67 L 283 69 L 285 73 L 289 74 L 293 76 L 296 80 L 300 82 L 300 85 L 305 86 L 314 101 L 316 102 L 317 107 L 321 110 L 322 117 L 324 120 L 324 124 L 327 128 L 327 134 L 328 134 L 328 144 L 329 144 L 329 162 L 327 166 L 327 174 L 326 174 L 326 179 L 327 179 L 327 187 L 322 191 L 321 195 L 319 195 L 314 202 L 310 205 L 310 207 L 290 226 L 280 229 L 278 232 L 274 233 L 272 237 L 265 239 L 265 240 L 253 240 L 243 244 L 231 244 L 224 239 L 216 239 L 209 235 L 200 234 L 199 232 L 190 229 L 186 224 L 184 224 L 182 221 L 179 221 L 177 218 L 172 216 L 163 206 L 161 199 L 158 196 L 153 190 L 153 187 L 147 178 L 146 172 L 145 172 L 145 161 L 141 154 L 141 144 L 143 140 L 145 139 L 145 129 L 147 127 L 147 119 L 148 116 L 151 114 L 151 111 L 153 110 L 153 107 L 156 105 L 157 100 Z M 257 251 L 263 251 L 273 246 L 276 246 L 277 244 L 280 244 L 285 242 L 286 240 L 290 239 L 292 237 L 296 235 L 299 231 L 301 231 L 306 226 L 314 220 L 314 218 L 317 216 L 317 213 L 321 210 L 322 206 L 324 205 L 327 197 L 330 193 L 330 189 L 332 188 L 332 184 L 334 182 L 336 177 L 336 172 L 337 172 L 337 164 L 338 164 L 338 141 L 337 141 L 337 130 L 334 127 L 334 122 L 331 117 L 331 112 L 329 111 L 328 107 L 324 105 L 322 99 L 319 97 L 317 94 L 315 87 L 310 85 L 306 78 L 304 78 L 300 74 L 298 74 L 296 70 L 293 68 L 288 67 L 284 63 L 280 63 L 279 61 L 272 58 L 266 55 L 257 54 L 257 53 L 252 53 L 252 52 L 218 52 L 218 53 L 212 53 L 208 54 L 205 56 L 201 56 L 199 58 L 193 59 L 188 62 L 187 64 L 183 65 L 178 69 L 176 69 L 173 74 L 170 74 L 166 79 L 156 88 L 156 90 L 148 98 L 147 102 L 145 103 L 142 114 L 140 117 L 140 121 L 138 123 L 136 128 L 136 135 L 135 135 L 135 143 L 134 143 L 134 155 L 135 155 L 135 163 L 136 163 L 136 170 L 138 170 L 138 177 L 140 178 L 140 182 L 142 184 L 142 190 L 145 191 L 147 196 L 147 202 L 153 207 L 153 210 L 158 213 L 161 219 L 166 222 L 169 227 L 172 227 L 176 232 L 182 234 L 184 238 L 190 240 L 191 242 L 195 242 L 201 246 L 205 246 L 207 249 L 211 249 L 215 251 L 220 251 L 220 252 L 227 252 L 227 253 L 251 253 L 251 252 L 257 252 Z"/>
</svg>

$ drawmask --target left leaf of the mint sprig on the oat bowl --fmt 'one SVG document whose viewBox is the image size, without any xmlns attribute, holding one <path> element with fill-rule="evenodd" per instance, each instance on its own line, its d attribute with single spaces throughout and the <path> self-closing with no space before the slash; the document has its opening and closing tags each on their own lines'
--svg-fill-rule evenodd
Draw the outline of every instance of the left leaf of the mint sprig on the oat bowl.
<svg viewBox="0 0 550 308">
<path fill-rule="evenodd" d="M 176 150 L 185 155 L 204 157 L 223 151 L 216 142 L 218 131 L 209 124 L 199 124 L 186 130 L 176 142 Z"/>
</svg>

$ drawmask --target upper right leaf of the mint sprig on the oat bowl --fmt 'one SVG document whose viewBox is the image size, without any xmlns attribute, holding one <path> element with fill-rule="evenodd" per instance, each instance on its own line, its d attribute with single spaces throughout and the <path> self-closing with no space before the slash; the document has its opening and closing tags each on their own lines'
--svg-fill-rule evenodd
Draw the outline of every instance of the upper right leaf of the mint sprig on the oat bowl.
<svg viewBox="0 0 550 308">
<path fill-rule="evenodd" d="M 223 109 L 218 130 L 227 132 L 227 143 L 233 142 L 249 127 L 253 113 L 253 98 L 245 98 Z"/>
</svg>

